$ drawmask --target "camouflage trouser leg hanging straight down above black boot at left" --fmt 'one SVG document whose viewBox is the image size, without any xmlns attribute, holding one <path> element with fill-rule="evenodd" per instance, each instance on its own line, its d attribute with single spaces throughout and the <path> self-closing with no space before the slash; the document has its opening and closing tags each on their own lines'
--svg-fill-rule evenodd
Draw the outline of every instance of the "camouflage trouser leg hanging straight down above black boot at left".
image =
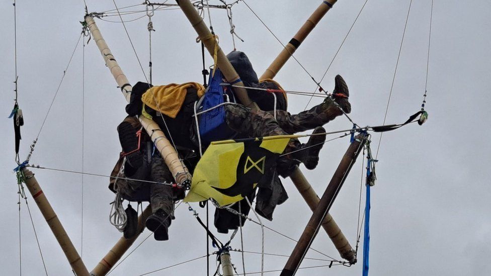
<svg viewBox="0 0 491 276">
<path fill-rule="evenodd" d="M 171 171 L 163 161 L 160 154 L 152 156 L 151 164 L 151 179 L 155 182 L 168 182 L 174 181 Z M 172 213 L 172 207 L 174 202 L 174 191 L 169 185 L 151 183 L 150 186 L 150 204 L 152 207 L 152 213 L 155 213 L 158 209 L 162 209 L 168 215 Z"/>
</svg>

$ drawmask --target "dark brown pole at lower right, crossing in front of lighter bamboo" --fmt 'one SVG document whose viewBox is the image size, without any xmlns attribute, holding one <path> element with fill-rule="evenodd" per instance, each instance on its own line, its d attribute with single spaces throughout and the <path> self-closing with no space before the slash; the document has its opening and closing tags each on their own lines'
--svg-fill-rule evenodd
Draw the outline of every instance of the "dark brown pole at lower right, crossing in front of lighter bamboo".
<svg viewBox="0 0 491 276">
<path fill-rule="evenodd" d="M 322 195 L 319 204 L 315 208 L 315 211 L 310 217 L 307 226 L 303 230 L 303 233 L 300 236 L 297 244 L 295 245 L 293 252 L 288 258 L 285 267 L 281 271 L 281 276 L 295 275 L 305 254 L 307 253 L 308 248 L 312 244 L 312 241 L 319 231 L 322 220 L 325 218 L 325 215 L 328 214 L 329 209 L 331 209 L 331 206 L 336 200 L 339 191 L 343 187 L 343 183 L 348 176 L 348 173 L 350 172 L 353 164 L 356 161 L 356 158 L 363 149 L 363 146 L 366 143 L 366 137 L 367 135 L 363 133 L 357 135 L 355 137 L 355 140 L 348 147 L 348 150 L 346 151 L 343 159 L 336 169 L 333 178 L 331 178 L 328 187 L 325 189 L 325 192 Z"/>
</svg>

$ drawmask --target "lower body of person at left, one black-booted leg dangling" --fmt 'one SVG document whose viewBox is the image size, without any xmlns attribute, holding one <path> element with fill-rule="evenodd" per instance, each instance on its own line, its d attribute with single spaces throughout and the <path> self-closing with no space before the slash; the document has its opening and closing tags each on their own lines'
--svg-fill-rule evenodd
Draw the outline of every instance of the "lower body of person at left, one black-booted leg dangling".
<svg viewBox="0 0 491 276">
<path fill-rule="evenodd" d="M 123 148 L 121 157 L 126 158 L 120 158 L 111 174 L 113 190 L 127 200 L 149 199 L 152 215 L 145 221 L 145 226 L 154 233 L 156 240 L 168 240 L 174 201 L 183 198 L 183 191 L 177 193 L 171 186 L 174 177 L 160 154 L 152 155 L 153 143 L 141 131 L 138 119 L 126 117 L 118 126 L 118 134 Z M 123 160 L 124 168 L 121 169 Z"/>
</svg>

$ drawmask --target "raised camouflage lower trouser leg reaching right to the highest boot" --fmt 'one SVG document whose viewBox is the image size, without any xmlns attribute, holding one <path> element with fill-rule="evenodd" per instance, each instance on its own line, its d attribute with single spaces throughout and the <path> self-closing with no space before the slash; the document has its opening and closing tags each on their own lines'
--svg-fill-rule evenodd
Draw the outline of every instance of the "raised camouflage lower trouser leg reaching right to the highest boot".
<svg viewBox="0 0 491 276">
<path fill-rule="evenodd" d="M 274 114 L 273 111 L 269 113 Z M 342 114 L 341 110 L 334 105 L 333 100 L 327 99 L 322 104 L 299 114 L 291 115 L 284 110 L 277 110 L 276 121 L 285 132 L 293 134 L 323 126 Z"/>
</svg>

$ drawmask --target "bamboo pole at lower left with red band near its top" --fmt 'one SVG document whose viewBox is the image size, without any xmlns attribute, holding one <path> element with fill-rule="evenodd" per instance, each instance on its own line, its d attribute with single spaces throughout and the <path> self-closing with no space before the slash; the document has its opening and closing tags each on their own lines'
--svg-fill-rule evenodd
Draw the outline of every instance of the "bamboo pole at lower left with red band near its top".
<svg viewBox="0 0 491 276">
<path fill-rule="evenodd" d="M 68 237 L 68 234 L 66 234 L 65 229 L 61 225 L 58 216 L 56 216 L 56 213 L 49 204 L 46 195 L 44 195 L 43 190 L 41 190 L 36 177 L 34 177 L 34 173 L 32 173 L 32 171 L 28 170 L 25 167 L 22 168 L 22 172 L 25 176 L 27 189 L 29 189 L 32 198 L 38 205 L 38 208 L 41 211 L 41 214 L 43 214 L 44 219 L 48 223 L 49 228 L 51 228 L 51 231 L 60 244 L 63 253 L 65 253 L 65 256 L 68 259 L 73 272 L 75 272 L 77 276 L 89 276 L 89 271 L 87 270 L 84 261 L 80 258 L 80 255 L 78 255 L 78 252 L 73 246 L 73 243 L 71 243 L 71 240 Z"/>
</svg>

